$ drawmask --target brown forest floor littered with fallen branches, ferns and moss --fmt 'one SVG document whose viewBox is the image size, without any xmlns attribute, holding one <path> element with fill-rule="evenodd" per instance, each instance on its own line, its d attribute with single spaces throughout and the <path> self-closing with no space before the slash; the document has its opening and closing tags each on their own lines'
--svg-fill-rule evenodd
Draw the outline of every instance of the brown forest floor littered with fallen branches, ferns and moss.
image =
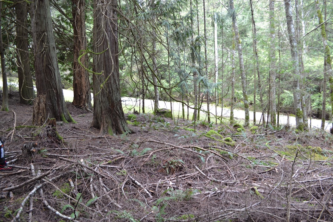
<svg viewBox="0 0 333 222">
<path fill-rule="evenodd" d="M 326 131 L 140 114 L 136 133 L 100 135 L 70 103 L 77 123 L 32 126 L 17 96 L 0 111 L 14 168 L 0 172 L 0 221 L 333 221 Z"/>
</svg>

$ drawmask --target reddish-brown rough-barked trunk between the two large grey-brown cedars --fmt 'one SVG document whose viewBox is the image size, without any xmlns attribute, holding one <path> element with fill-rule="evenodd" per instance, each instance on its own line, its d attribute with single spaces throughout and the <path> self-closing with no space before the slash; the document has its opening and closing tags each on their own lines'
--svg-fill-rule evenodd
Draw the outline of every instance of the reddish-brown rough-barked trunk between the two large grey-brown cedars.
<svg viewBox="0 0 333 222">
<path fill-rule="evenodd" d="M 84 53 L 81 55 L 82 51 L 87 50 L 84 0 L 72 0 L 72 15 L 74 32 L 73 105 L 91 109 L 89 74 L 86 70 L 88 67 L 88 54 Z"/>
</svg>

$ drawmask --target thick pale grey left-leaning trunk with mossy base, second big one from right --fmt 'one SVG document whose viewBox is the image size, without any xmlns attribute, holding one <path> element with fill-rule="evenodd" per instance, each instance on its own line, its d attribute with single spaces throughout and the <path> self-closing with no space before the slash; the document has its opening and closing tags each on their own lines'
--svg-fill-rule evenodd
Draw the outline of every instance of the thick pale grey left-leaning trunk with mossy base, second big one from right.
<svg viewBox="0 0 333 222">
<path fill-rule="evenodd" d="M 292 69 L 293 69 L 293 97 L 294 97 L 294 113 L 296 119 L 296 129 L 304 130 L 305 125 L 303 122 L 303 111 L 301 105 L 301 93 L 300 93 L 300 84 L 299 84 L 299 61 L 297 55 L 297 43 L 295 38 L 295 29 L 294 22 L 292 18 L 292 11 L 290 0 L 285 0 L 285 11 L 286 11 L 286 21 L 288 28 L 288 36 L 291 49 L 291 60 L 292 60 Z"/>
</svg>

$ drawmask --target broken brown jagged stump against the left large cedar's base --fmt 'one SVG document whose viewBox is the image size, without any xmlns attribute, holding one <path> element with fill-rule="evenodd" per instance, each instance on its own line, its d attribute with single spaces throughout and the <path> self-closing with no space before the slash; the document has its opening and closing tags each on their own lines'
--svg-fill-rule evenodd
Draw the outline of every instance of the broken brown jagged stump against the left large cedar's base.
<svg viewBox="0 0 333 222">
<path fill-rule="evenodd" d="M 46 119 L 46 94 L 40 95 L 34 100 L 32 124 L 43 125 Z"/>
</svg>

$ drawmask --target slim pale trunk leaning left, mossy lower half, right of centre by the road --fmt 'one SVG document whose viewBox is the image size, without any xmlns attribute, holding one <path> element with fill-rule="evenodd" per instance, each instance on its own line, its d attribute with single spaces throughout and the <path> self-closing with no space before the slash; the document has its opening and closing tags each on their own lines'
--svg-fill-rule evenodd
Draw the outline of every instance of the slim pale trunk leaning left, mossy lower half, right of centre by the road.
<svg viewBox="0 0 333 222">
<path fill-rule="evenodd" d="M 244 111 L 245 111 L 244 126 L 247 127 L 250 124 L 249 103 L 248 103 L 248 96 L 247 96 L 247 89 L 246 89 L 246 76 L 245 76 L 245 71 L 244 71 L 242 44 L 241 44 L 240 36 L 238 33 L 237 19 L 236 19 L 235 7 L 233 5 L 233 0 L 229 0 L 229 7 L 230 7 L 230 12 L 231 12 L 232 26 L 233 26 L 233 29 L 235 32 L 235 41 L 237 44 L 237 51 L 238 51 L 240 77 L 241 77 L 241 81 L 242 81 L 243 102 L 244 102 Z"/>
</svg>

